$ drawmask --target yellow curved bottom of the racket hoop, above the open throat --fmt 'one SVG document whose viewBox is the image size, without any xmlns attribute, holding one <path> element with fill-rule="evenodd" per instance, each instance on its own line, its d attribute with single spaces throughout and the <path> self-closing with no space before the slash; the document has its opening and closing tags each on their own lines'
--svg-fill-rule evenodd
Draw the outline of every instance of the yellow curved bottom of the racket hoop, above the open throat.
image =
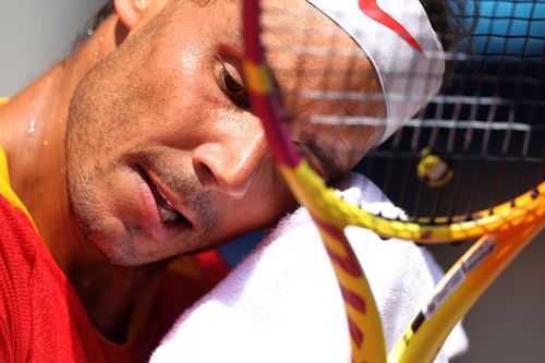
<svg viewBox="0 0 545 363">
<path fill-rule="evenodd" d="M 429 218 L 403 221 L 374 215 L 343 201 L 334 189 L 325 185 L 323 179 L 304 159 L 295 168 L 280 167 L 280 171 L 298 201 L 317 218 L 339 228 L 364 227 L 384 238 L 419 243 L 462 241 L 495 232 L 505 225 L 513 228 L 512 225 L 534 208 L 536 201 L 545 194 L 545 182 L 542 182 L 535 191 L 529 191 L 512 202 L 495 206 L 492 214 L 488 209 L 474 213 L 471 220 L 467 220 L 465 216 L 458 216 L 450 218 L 450 221 L 447 217 L 435 218 L 434 223 L 429 222 Z"/>
</svg>

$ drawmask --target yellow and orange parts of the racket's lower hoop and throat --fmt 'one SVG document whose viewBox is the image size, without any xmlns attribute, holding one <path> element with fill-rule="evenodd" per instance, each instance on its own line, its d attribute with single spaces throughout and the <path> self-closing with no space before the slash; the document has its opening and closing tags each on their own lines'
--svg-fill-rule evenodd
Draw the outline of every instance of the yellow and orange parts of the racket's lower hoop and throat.
<svg viewBox="0 0 545 363">
<path fill-rule="evenodd" d="M 474 270 L 464 273 L 463 282 L 457 286 L 451 294 L 440 302 L 437 310 L 419 326 L 417 334 L 412 325 L 409 326 L 387 359 L 383 356 L 384 340 L 366 341 L 365 351 L 352 341 L 352 354 L 355 362 L 432 362 L 453 326 L 545 225 L 544 182 L 537 186 L 536 191 L 520 195 L 513 203 L 505 203 L 495 207 L 494 215 L 491 215 L 488 210 L 480 211 L 476 215 L 482 216 L 481 219 L 441 226 L 388 220 L 360 209 L 344 202 L 332 189 L 327 187 L 304 159 L 293 169 L 280 166 L 280 171 L 300 203 L 306 206 L 311 215 L 318 220 L 316 225 L 327 246 L 342 249 L 343 243 L 338 239 L 342 239 L 343 235 L 332 235 L 325 231 L 324 221 L 332 223 L 340 231 L 347 226 L 361 226 L 382 235 L 397 238 L 402 235 L 404 239 L 412 238 L 428 243 L 481 237 L 439 281 L 434 292 L 435 295 L 445 294 L 445 289 L 453 280 L 453 275 L 464 268 L 468 261 L 475 258 L 474 256 L 479 255 L 480 251 L 493 245 L 491 254 L 482 257 L 483 261 L 479 261 Z M 423 234 L 426 239 L 421 238 Z M 354 314 L 351 306 L 346 304 L 347 314 L 355 316 L 354 320 L 362 324 L 365 337 L 371 338 L 382 334 L 380 319 L 376 313 L 377 308 L 367 280 L 364 276 L 358 280 L 350 278 L 335 262 L 334 269 L 340 286 L 347 286 L 365 301 L 373 302 L 373 308 L 370 310 L 371 316 L 359 316 Z"/>
</svg>

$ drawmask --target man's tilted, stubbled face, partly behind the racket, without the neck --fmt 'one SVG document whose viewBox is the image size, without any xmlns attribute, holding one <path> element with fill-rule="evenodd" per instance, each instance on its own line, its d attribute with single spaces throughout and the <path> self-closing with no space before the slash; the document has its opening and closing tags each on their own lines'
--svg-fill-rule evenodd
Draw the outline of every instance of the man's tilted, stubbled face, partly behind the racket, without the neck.
<svg viewBox="0 0 545 363">
<path fill-rule="evenodd" d="M 74 94 L 66 132 L 71 207 L 83 232 L 117 264 L 142 265 L 218 245 L 270 226 L 295 206 L 241 88 L 240 5 L 167 5 Z M 287 12 L 279 21 L 295 15 Z M 298 57 L 274 61 L 289 68 Z M 312 86 L 313 80 L 305 82 Z M 294 113 L 307 113 L 311 106 Z M 303 146 L 308 128 L 292 125 Z M 341 168 L 348 164 L 353 160 Z"/>
</svg>

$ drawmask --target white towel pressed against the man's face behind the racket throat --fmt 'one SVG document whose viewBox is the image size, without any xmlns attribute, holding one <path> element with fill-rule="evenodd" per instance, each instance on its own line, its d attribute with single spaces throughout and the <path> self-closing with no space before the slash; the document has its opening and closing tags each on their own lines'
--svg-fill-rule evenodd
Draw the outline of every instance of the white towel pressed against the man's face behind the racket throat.
<svg viewBox="0 0 545 363">
<path fill-rule="evenodd" d="M 398 214 L 368 180 L 352 174 L 344 197 Z M 441 275 L 433 257 L 411 242 L 383 241 L 349 228 L 349 240 L 377 301 L 388 349 L 401 336 Z M 184 313 L 153 363 L 351 362 L 342 299 L 308 213 L 300 208 L 210 293 Z M 467 349 L 460 326 L 436 362 Z"/>
</svg>

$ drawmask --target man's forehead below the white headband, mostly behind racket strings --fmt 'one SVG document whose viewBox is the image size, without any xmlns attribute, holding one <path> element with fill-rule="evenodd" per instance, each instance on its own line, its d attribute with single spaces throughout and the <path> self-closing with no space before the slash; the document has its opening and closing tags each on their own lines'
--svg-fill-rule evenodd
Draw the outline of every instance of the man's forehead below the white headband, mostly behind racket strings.
<svg viewBox="0 0 545 363">
<path fill-rule="evenodd" d="M 365 99 L 365 92 L 382 94 L 373 65 L 348 34 L 305 0 L 263 0 L 262 14 L 267 62 L 294 138 L 312 144 L 328 164 L 348 170 L 382 130 L 311 120 L 316 114 L 383 116 L 382 101 Z M 243 53 L 242 0 L 177 1 L 173 19 L 198 34 L 207 47 L 226 45 Z M 332 99 L 305 96 L 316 90 L 338 93 Z M 350 93 L 362 97 L 354 99 Z"/>
</svg>

